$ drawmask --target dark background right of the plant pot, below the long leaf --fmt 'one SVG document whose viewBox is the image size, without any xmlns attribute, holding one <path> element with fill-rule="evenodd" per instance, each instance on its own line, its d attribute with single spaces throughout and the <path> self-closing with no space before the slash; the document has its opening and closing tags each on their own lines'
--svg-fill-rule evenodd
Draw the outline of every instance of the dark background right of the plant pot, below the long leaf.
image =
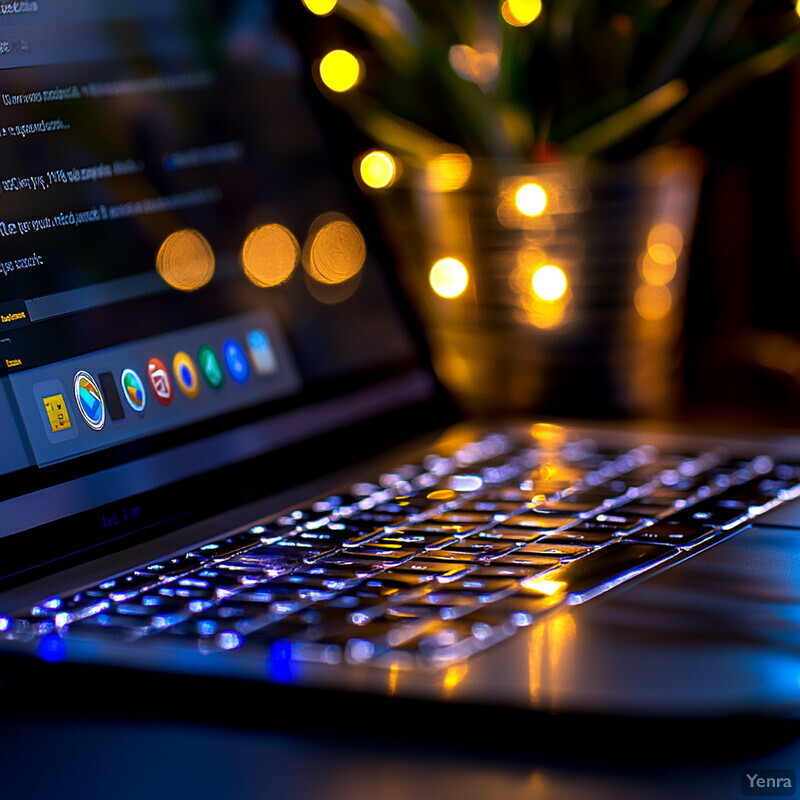
<svg viewBox="0 0 800 800">
<path fill-rule="evenodd" d="M 800 66 L 689 131 L 707 158 L 692 248 L 681 415 L 800 426 Z"/>
</svg>

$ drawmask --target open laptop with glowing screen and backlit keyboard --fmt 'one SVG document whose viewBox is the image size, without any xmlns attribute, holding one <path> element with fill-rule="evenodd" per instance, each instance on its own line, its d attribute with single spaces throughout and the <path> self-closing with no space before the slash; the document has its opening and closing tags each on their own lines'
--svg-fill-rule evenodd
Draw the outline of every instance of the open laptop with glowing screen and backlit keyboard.
<svg viewBox="0 0 800 800">
<path fill-rule="evenodd" d="M 2 6 L 6 686 L 796 714 L 800 442 L 461 421 L 286 8 Z"/>
</svg>

